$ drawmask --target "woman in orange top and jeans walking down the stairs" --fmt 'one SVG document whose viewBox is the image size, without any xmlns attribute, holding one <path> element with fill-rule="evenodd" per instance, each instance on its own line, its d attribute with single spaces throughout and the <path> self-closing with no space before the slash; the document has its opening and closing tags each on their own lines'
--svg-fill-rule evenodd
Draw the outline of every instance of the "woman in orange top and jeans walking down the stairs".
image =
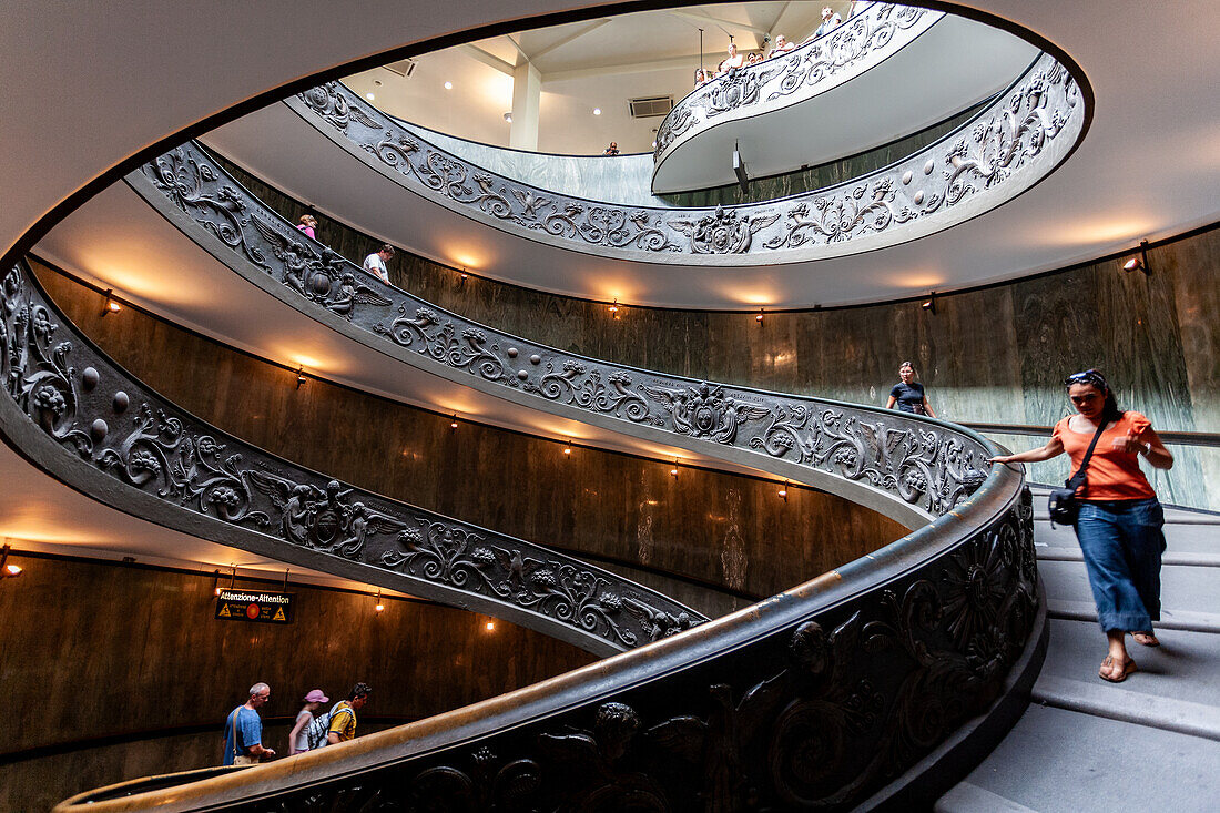
<svg viewBox="0 0 1220 813">
<path fill-rule="evenodd" d="M 1068 397 L 1076 415 L 1055 424 L 1041 449 L 992 458 L 992 463 L 1037 463 L 1066 452 L 1078 471 L 1097 427 L 1105 425 L 1086 470 L 1087 481 L 1076 520 L 1076 538 L 1085 554 L 1088 584 L 1097 603 L 1097 620 L 1109 638 L 1109 653 L 1098 676 L 1122 682 L 1136 670 L 1125 636 L 1159 646 L 1152 623 L 1160 620 L 1160 555 L 1165 551 L 1164 511 L 1139 455 L 1157 469 L 1174 465 L 1174 455 L 1139 413 L 1122 411 L 1097 370 L 1070 376 Z"/>
</svg>

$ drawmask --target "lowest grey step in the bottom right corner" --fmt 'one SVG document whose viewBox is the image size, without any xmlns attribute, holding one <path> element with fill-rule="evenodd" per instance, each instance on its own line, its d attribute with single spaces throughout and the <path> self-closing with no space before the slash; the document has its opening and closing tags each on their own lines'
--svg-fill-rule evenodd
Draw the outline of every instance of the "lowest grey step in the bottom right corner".
<svg viewBox="0 0 1220 813">
<path fill-rule="evenodd" d="M 982 804 L 936 809 L 1021 809 L 993 806 L 1000 800 L 1044 813 L 1210 813 L 1220 797 L 1216 765 L 1214 740 L 1032 704 L 965 780 L 991 796 Z M 959 787 L 944 798 L 953 802 Z"/>
</svg>

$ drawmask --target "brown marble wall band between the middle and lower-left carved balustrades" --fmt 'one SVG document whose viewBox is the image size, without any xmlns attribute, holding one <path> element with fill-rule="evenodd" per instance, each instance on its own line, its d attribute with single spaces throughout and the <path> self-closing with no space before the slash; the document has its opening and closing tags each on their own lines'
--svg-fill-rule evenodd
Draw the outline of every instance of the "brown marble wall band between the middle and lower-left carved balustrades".
<svg viewBox="0 0 1220 813">
<path fill-rule="evenodd" d="M 773 482 L 670 461 L 577 448 L 462 422 L 310 381 L 132 309 L 100 316 L 99 294 L 54 271 L 39 278 L 70 319 L 120 365 L 170 400 L 281 457 L 442 514 L 543 544 L 644 564 L 710 585 L 770 596 L 905 535 L 875 511 L 809 490 L 794 503 Z M 748 327 L 753 319 L 745 320 Z M 606 330 L 619 331 L 610 320 Z M 744 322 L 743 322 L 744 325 Z M 622 328 L 626 332 L 630 328 Z M 741 499 L 744 576 L 726 581 L 727 494 Z M 784 568 L 771 569 L 778 558 Z M 715 597 L 710 597 L 712 605 Z"/>
</svg>

